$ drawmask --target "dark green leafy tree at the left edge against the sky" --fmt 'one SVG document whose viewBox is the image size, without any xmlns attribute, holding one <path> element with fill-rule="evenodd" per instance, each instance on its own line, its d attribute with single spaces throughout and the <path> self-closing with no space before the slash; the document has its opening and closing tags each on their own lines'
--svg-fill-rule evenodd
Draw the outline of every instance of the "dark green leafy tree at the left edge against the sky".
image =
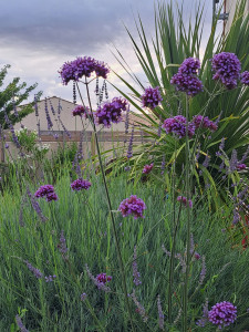
<svg viewBox="0 0 249 332">
<path fill-rule="evenodd" d="M 19 123 L 28 114 L 32 113 L 33 103 L 17 107 L 25 100 L 30 93 L 38 86 L 38 83 L 27 86 L 25 82 L 20 82 L 20 77 L 14 77 L 7 86 L 4 86 L 4 79 L 8 74 L 10 65 L 7 64 L 0 69 L 0 125 L 3 129 L 8 128 L 6 123 L 4 113 L 7 113 L 12 125 Z M 37 93 L 37 100 L 41 96 L 41 92 Z"/>
</svg>

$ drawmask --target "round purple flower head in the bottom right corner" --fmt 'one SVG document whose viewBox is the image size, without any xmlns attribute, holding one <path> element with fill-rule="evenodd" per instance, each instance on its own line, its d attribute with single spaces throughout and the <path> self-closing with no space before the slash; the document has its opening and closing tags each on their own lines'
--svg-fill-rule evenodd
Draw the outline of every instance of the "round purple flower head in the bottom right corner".
<svg viewBox="0 0 249 332">
<path fill-rule="evenodd" d="M 216 303 L 208 312 L 208 319 L 219 329 L 229 326 L 237 319 L 237 308 L 227 301 Z"/>
</svg>

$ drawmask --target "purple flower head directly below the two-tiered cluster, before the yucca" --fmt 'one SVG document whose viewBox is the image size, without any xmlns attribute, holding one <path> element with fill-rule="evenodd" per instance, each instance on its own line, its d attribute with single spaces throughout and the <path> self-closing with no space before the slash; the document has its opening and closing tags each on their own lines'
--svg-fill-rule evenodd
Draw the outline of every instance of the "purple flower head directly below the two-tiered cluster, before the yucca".
<svg viewBox="0 0 249 332">
<path fill-rule="evenodd" d="M 176 115 L 174 117 L 166 118 L 162 125 L 165 128 L 167 134 L 174 133 L 179 138 L 186 136 L 186 117 L 183 115 Z M 188 123 L 188 136 L 191 138 L 195 134 L 195 125 Z"/>
</svg>

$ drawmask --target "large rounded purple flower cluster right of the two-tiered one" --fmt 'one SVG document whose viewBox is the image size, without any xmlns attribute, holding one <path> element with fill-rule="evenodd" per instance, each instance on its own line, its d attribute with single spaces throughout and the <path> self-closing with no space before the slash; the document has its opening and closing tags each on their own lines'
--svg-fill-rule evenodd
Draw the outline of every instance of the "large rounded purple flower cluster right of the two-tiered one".
<svg viewBox="0 0 249 332">
<path fill-rule="evenodd" d="M 221 52 L 211 59 L 215 72 L 212 80 L 219 80 L 227 89 L 235 89 L 240 76 L 241 64 L 234 53 Z"/>
</svg>

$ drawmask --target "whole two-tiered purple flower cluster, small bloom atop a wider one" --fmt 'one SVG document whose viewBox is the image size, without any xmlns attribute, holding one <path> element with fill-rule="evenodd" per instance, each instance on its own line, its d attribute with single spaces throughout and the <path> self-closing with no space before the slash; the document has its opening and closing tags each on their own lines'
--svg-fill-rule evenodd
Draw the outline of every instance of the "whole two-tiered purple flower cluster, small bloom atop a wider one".
<svg viewBox="0 0 249 332">
<path fill-rule="evenodd" d="M 201 81 L 197 77 L 200 62 L 198 59 L 186 59 L 178 69 L 170 83 L 176 85 L 177 91 L 187 93 L 187 95 L 194 96 L 204 90 Z"/>
</svg>

